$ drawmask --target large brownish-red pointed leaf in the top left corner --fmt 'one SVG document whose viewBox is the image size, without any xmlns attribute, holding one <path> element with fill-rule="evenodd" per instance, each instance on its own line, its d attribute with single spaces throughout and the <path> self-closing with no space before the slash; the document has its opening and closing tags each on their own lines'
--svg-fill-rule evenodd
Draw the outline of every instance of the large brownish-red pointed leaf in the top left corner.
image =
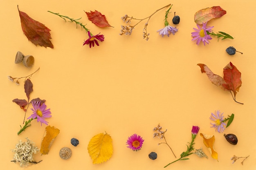
<svg viewBox="0 0 256 170">
<path fill-rule="evenodd" d="M 31 41 L 35 45 L 44 46 L 45 48 L 48 46 L 53 49 L 53 44 L 49 40 L 51 39 L 51 34 L 44 24 L 33 20 L 27 15 L 27 13 L 19 10 L 20 14 L 20 22 L 23 33 L 27 36 L 29 41 Z"/>
</svg>

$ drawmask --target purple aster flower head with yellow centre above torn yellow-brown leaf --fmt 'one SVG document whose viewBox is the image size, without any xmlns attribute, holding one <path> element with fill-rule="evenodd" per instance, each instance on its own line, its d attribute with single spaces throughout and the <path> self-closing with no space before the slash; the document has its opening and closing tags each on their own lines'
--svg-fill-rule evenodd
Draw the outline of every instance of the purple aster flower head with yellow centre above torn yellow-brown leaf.
<svg viewBox="0 0 256 170">
<path fill-rule="evenodd" d="M 50 115 L 50 109 L 46 109 L 45 103 L 41 104 L 40 101 L 32 102 L 32 106 L 33 108 L 31 108 L 31 110 L 33 111 L 33 114 L 29 116 L 27 119 L 37 119 L 37 122 L 41 122 L 41 126 L 42 123 L 48 125 L 47 123 L 49 122 L 45 121 L 45 118 L 52 117 L 52 115 Z"/>
</svg>

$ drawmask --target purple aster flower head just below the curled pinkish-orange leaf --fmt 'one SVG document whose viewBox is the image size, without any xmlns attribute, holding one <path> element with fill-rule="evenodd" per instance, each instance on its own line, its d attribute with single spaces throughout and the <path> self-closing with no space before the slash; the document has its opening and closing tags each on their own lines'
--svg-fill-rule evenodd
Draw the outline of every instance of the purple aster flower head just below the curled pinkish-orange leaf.
<svg viewBox="0 0 256 170">
<path fill-rule="evenodd" d="M 195 30 L 195 32 L 191 33 L 192 34 L 192 41 L 196 40 L 196 44 L 199 45 L 199 43 L 202 41 L 205 45 L 205 43 L 209 44 L 209 40 L 211 40 L 211 36 L 207 34 L 208 32 L 211 32 L 213 26 L 206 26 L 206 23 L 203 23 L 202 28 L 200 27 L 200 25 L 196 24 L 198 26 L 198 29 L 193 28 Z"/>
</svg>

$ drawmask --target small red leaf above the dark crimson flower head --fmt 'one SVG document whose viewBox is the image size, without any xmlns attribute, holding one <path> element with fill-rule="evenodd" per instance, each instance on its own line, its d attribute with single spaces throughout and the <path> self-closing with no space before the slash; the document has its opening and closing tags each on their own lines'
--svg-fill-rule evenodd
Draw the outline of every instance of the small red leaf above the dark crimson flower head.
<svg viewBox="0 0 256 170">
<path fill-rule="evenodd" d="M 102 15 L 99 11 L 93 12 L 85 12 L 88 19 L 90 21 L 92 21 L 92 23 L 94 23 L 95 25 L 99 26 L 99 27 L 106 27 L 106 26 L 111 26 L 110 24 L 108 24 L 108 21 L 106 19 L 105 15 Z"/>
</svg>

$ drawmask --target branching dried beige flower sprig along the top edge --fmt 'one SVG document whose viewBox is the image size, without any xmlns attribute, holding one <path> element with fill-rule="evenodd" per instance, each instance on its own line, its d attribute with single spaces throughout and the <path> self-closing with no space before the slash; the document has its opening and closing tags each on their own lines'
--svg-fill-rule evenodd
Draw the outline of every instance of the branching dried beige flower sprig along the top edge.
<svg viewBox="0 0 256 170">
<path fill-rule="evenodd" d="M 137 18 L 133 18 L 132 16 L 129 17 L 128 15 L 124 15 L 121 19 L 122 19 L 124 22 L 126 22 L 126 24 L 128 24 L 128 23 L 130 24 L 130 23 L 131 23 L 131 20 L 139 20 L 139 22 L 137 22 L 137 24 L 139 24 L 141 21 L 148 19 L 147 22 L 145 23 L 144 29 L 143 29 L 143 38 L 148 41 L 148 39 L 149 39 L 149 37 L 148 37 L 148 36 L 149 36 L 149 33 L 147 32 L 148 21 L 150 20 L 150 18 L 151 18 L 155 13 L 157 13 L 157 11 L 159 11 L 159 10 L 161 10 L 161 9 L 164 9 L 164 8 L 170 6 L 170 5 L 171 5 L 171 4 L 168 4 L 168 5 L 166 5 L 166 6 L 162 7 L 162 8 L 160 8 L 160 9 L 157 9 L 154 13 L 152 13 L 151 15 L 149 15 L 148 17 L 146 17 L 146 18 L 144 18 L 144 19 L 137 19 Z M 121 28 L 122 28 L 122 29 L 121 29 L 121 33 L 119 33 L 119 35 L 131 35 L 131 34 L 132 34 L 132 30 L 134 29 L 134 27 L 135 27 L 137 24 L 135 24 L 135 25 L 133 25 L 133 26 L 131 26 L 131 25 L 129 25 L 129 26 L 121 25 Z"/>
</svg>

